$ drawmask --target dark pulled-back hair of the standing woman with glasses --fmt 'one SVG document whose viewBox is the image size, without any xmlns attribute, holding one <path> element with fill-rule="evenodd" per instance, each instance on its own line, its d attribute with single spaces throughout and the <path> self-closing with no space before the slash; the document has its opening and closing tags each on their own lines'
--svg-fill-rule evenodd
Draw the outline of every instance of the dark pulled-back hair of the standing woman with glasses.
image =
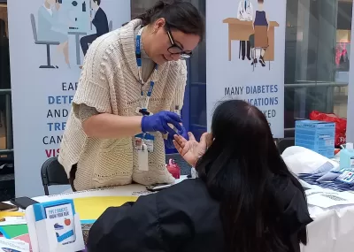
<svg viewBox="0 0 354 252">
<path fill-rule="evenodd" d="M 165 19 L 166 25 L 172 30 L 196 34 L 201 41 L 204 39 L 204 18 L 193 4 L 176 0 L 158 1 L 135 19 L 142 19 L 142 25 L 147 26 L 161 18 Z"/>
</svg>

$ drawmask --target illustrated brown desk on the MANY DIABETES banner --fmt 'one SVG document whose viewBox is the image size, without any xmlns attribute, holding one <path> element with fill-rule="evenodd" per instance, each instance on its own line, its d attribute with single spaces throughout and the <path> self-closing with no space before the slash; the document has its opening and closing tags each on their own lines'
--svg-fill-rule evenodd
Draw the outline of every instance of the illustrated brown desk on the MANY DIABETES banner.
<svg viewBox="0 0 354 252">
<path fill-rule="evenodd" d="M 250 35 L 254 34 L 253 22 L 242 21 L 239 19 L 228 18 L 223 20 L 224 24 L 228 24 L 228 60 L 231 61 L 231 42 L 232 41 L 249 41 Z M 268 43 L 266 49 L 265 61 L 274 61 L 274 30 L 279 27 L 275 21 L 269 22 Z"/>
</svg>

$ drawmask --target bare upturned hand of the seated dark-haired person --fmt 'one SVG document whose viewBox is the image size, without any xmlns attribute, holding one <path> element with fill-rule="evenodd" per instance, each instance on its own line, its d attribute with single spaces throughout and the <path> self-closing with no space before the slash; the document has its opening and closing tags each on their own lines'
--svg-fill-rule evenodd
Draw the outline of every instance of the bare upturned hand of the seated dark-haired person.
<svg viewBox="0 0 354 252">
<path fill-rule="evenodd" d="M 212 134 L 204 133 L 200 142 L 189 132 L 189 141 L 181 135 L 174 135 L 173 145 L 187 163 L 196 167 L 196 161 L 202 157 L 212 143 Z"/>
</svg>

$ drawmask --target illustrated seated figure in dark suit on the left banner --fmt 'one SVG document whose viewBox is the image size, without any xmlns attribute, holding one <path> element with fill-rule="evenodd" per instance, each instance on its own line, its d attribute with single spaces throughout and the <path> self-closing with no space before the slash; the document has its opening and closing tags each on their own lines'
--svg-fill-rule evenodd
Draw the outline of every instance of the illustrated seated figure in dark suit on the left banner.
<svg viewBox="0 0 354 252">
<path fill-rule="evenodd" d="M 109 32 L 108 19 L 107 15 L 104 13 L 104 10 L 100 7 L 101 0 L 89 0 L 91 1 L 91 6 L 93 11 L 95 11 L 95 16 L 91 17 L 92 24 L 96 27 L 96 34 L 90 34 L 81 38 L 81 49 L 83 55 L 89 50 L 89 44 L 94 42 L 96 38 L 107 34 Z"/>
</svg>

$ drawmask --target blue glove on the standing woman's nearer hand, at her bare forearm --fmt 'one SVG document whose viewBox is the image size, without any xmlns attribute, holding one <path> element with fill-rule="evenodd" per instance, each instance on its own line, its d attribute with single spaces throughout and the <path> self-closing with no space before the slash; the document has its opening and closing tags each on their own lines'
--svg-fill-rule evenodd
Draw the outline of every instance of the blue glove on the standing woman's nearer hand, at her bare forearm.
<svg viewBox="0 0 354 252">
<path fill-rule="evenodd" d="M 160 132 L 162 134 L 176 134 L 167 124 L 172 124 L 181 130 L 181 118 L 176 113 L 170 111 L 161 111 L 152 116 L 142 117 L 142 132 Z"/>
</svg>

